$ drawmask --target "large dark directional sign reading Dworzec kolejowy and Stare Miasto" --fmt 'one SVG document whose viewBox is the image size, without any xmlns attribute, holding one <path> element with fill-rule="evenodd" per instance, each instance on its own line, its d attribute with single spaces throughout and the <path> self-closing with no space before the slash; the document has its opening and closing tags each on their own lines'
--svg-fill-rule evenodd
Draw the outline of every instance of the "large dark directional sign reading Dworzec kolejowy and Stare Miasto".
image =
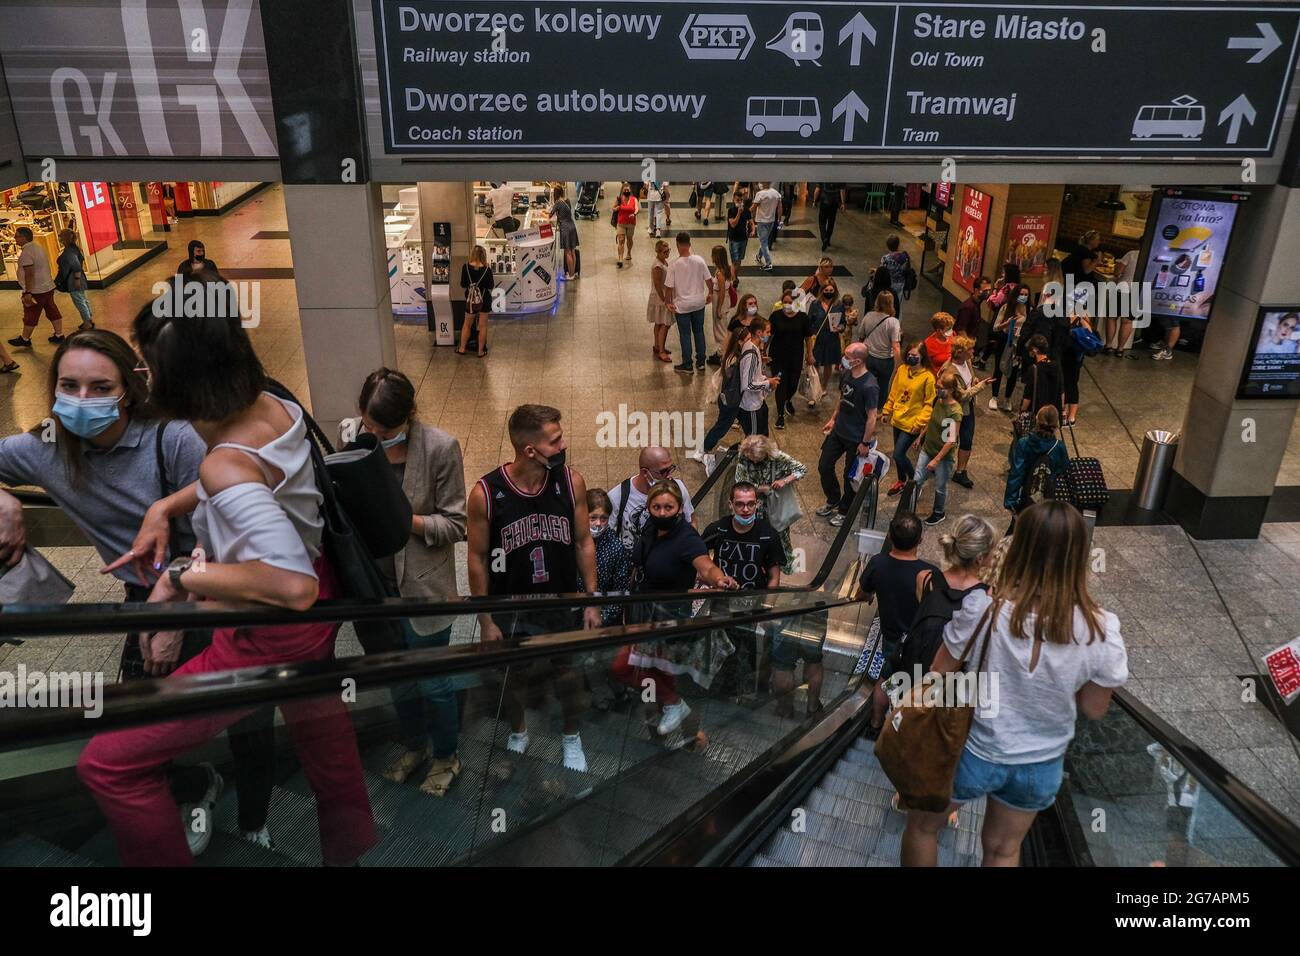
<svg viewBox="0 0 1300 956">
<path fill-rule="evenodd" d="M 374 0 L 403 155 L 1251 156 L 1300 7 Z"/>
</svg>

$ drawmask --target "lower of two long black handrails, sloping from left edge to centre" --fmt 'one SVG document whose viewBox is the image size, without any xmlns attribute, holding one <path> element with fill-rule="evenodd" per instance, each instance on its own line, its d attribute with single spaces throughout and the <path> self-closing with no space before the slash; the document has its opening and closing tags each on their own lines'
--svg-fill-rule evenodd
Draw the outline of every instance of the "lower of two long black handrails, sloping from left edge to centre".
<svg viewBox="0 0 1300 956">
<path fill-rule="evenodd" d="M 760 593 L 760 592 L 755 592 Z M 177 719 L 200 713 L 238 710 L 266 704 L 282 704 L 326 693 L 339 693 L 344 680 L 351 687 L 387 687 L 396 682 L 464 674 L 493 667 L 528 663 L 536 659 L 623 646 L 647 640 L 689 639 L 725 627 L 744 627 L 764 620 L 827 613 L 854 601 L 824 594 L 806 605 L 758 607 L 732 614 L 710 614 L 681 620 L 588 631 L 564 631 L 489 644 L 460 644 L 448 648 L 394 650 L 381 654 L 329 658 L 299 663 L 269 665 L 212 674 L 172 676 L 166 680 L 131 680 L 104 688 L 103 713 L 87 721 L 81 708 L 16 709 L 0 721 L 0 750 L 29 748 L 58 739 L 82 737 L 160 719 Z"/>
</svg>

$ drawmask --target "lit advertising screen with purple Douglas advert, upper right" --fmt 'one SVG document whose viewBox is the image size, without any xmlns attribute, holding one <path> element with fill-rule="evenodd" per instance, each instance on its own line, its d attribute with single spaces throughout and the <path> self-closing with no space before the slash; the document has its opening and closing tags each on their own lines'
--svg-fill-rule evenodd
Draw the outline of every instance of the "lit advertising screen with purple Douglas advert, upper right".
<svg viewBox="0 0 1300 956">
<path fill-rule="evenodd" d="M 1205 321 L 1244 193 L 1166 187 L 1157 193 L 1143 280 L 1153 315 Z"/>
</svg>

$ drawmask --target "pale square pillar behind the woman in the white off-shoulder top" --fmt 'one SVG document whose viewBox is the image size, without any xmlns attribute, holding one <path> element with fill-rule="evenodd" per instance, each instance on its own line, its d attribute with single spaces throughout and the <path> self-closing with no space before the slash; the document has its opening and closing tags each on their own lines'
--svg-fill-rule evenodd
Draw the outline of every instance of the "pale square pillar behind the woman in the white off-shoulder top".
<svg viewBox="0 0 1300 956">
<path fill-rule="evenodd" d="M 312 412 L 326 434 L 365 376 L 396 365 L 378 183 L 285 185 Z"/>
</svg>

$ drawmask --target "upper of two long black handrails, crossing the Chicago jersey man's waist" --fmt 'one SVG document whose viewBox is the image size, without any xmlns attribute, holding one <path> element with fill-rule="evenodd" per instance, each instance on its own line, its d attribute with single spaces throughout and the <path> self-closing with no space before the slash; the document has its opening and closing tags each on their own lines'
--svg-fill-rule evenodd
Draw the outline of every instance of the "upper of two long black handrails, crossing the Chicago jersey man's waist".
<svg viewBox="0 0 1300 956">
<path fill-rule="evenodd" d="M 732 449 L 734 451 L 734 446 Z M 731 454 L 731 453 L 728 453 Z M 712 475 L 722 472 L 722 466 Z M 710 475 L 710 477 L 712 477 Z M 707 494 L 708 483 L 701 489 Z M 853 497 L 849 515 L 827 550 L 816 575 L 805 585 L 774 588 L 777 593 L 818 592 L 835 568 L 840 551 L 853 533 L 857 515 L 864 505 L 875 520 L 879 483 L 875 477 L 863 481 Z M 646 600 L 689 601 L 698 594 L 628 593 L 615 594 L 555 594 L 549 597 L 455 597 L 442 601 L 393 597 L 374 601 L 341 600 L 320 601 L 304 611 L 291 611 L 266 605 L 243 602 L 204 601 L 202 604 L 72 604 L 72 605 L 8 605 L 0 614 L 0 640 L 42 639 L 81 633 L 134 633 L 170 630 L 209 630 L 221 627 L 273 627 L 276 624 L 302 624 L 332 620 L 384 620 L 394 618 L 434 618 L 471 614 L 512 614 L 529 610 L 589 607 L 593 605 L 625 605 Z"/>
</svg>

